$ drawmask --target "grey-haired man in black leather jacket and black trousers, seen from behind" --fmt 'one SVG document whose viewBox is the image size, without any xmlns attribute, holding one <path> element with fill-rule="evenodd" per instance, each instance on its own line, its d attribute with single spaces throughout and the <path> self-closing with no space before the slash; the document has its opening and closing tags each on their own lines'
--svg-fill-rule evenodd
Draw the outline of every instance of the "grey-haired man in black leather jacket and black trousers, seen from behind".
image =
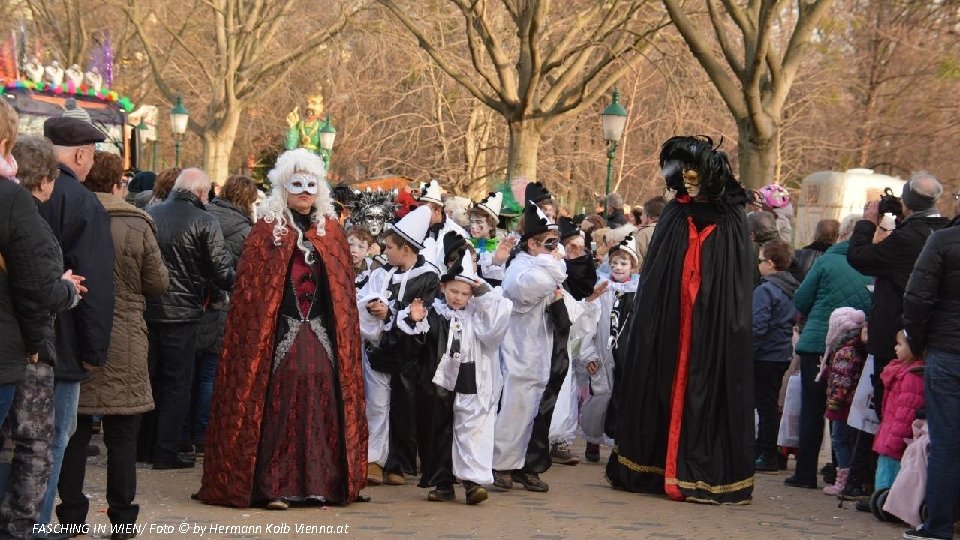
<svg viewBox="0 0 960 540">
<path fill-rule="evenodd" d="M 234 267 L 217 219 L 203 205 L 210 179 L 200 169 L 184 169 L 173 193 L 147 212 L 157 224 L 157 243 L 170 272 L 170 288 L 147 299 L 149 364 L 154 420 L 145 419 L 141 449 L 153 451 L 154 469 L 193 467 L 178 455 L 180 428 L 190 409 L 198 329 L 206 284 L 233 288 Z M 149 418 L 149 416 L 147 417 Z M 155 422 L 155 424 L 154 424 Z M 154 427 L 155 426 L 155 427 Z M 151 436 L 155 433 L 155 441 Z"/>
</svg>

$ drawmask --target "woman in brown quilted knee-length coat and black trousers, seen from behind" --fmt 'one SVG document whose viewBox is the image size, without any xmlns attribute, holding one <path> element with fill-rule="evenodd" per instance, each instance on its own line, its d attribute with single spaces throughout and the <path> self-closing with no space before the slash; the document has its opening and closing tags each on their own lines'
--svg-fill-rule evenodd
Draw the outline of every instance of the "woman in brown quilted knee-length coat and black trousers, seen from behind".
<svg viewBox="0 0 960 540">
<path fill-rule="evenodd" d="M 70 438 L 60 472 L 57 516 L 61 523 L 86 523 L 89 501 L 83 494 L 92 415 L 103 416 L 107 446 L 107 516 L 114 527 L 137 522 L 137 432 L 140 414 L 153 410 L 147 371 L 147 296 L 163 294 L 167 268 L 157 246 L 153 220 L 123 200 L 123 160 L 97 152 L 83 183 L 97 195 L 110 216 L 116 258 L 113 264 L 115 307 L 110 348 L 103 368 L 80 385 L 77 430 Z M 123 533 L 120 533 L 123 534 Z M 112 538 L 117 538 L 114 534 Z M 130 538 L 125 536 L 123 538 Z"/>
</svg>

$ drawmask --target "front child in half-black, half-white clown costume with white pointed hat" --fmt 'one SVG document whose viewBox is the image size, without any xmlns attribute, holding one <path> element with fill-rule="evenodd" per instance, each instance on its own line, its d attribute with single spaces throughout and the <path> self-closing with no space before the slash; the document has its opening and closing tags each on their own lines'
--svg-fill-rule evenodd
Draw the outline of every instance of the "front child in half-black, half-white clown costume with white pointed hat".
<svg viewBox="0 0 960 540">
<path fill-rule="evenodd" d="M 474 270 L 472 253 L 464 253 L 441 278 L 442 298 L 429 310 L 410 306 L 413 326 L 401 326 L 422 347 L 425 375 L 436 385 L 424 393 L 430 441 L 421 441 L 420 487 L 434 487 L 427 498 L 456 498 L 459 479 L 467 504 L 487 498 L 482 487 L 493 483 L 493 433 L 500 386 L 498 349 L 510 324 L 513 303 L 491 289 Z M 413 348 L 411 348 L 412 350 Z"/>
</svg>

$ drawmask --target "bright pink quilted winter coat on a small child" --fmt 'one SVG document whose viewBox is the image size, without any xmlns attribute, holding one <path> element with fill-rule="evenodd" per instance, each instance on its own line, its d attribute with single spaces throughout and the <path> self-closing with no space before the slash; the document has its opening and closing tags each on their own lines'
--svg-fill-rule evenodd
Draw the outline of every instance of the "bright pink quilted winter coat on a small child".
<svg viewBox="0 0 960 540">
<path fill-rule="evenodd" d="M 883 416 L 880 430 L 873 440 L 873 451 L 891 459 L 900 460 L 907 447 L 905 439 L 913 437 L 913 420 L 917 409 L 923 407 L 923 374 L 912 373 L 922 368 L 918 361 L 909 366 L 894 359 L 883 368 Z"/>
</svg>

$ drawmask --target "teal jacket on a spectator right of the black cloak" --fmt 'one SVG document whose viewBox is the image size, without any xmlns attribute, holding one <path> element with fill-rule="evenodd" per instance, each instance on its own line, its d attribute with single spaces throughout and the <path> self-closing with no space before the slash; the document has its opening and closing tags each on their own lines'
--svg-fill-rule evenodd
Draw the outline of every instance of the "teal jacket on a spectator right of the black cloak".
<svg viewBox="0 0 960 540">
<path fill-rule="evenodd" d="M 807 324 L 797 343 L 798 353 L 823 354 L 826 348 L 830 314 L 840 307 L 867 312 L 872 297 L 867 285 L 871 278 L 857 272 L 847 263 L 850 242 L 838 242 L 818 257 L 803 279 L 793 301 Z"/>
</svg>

